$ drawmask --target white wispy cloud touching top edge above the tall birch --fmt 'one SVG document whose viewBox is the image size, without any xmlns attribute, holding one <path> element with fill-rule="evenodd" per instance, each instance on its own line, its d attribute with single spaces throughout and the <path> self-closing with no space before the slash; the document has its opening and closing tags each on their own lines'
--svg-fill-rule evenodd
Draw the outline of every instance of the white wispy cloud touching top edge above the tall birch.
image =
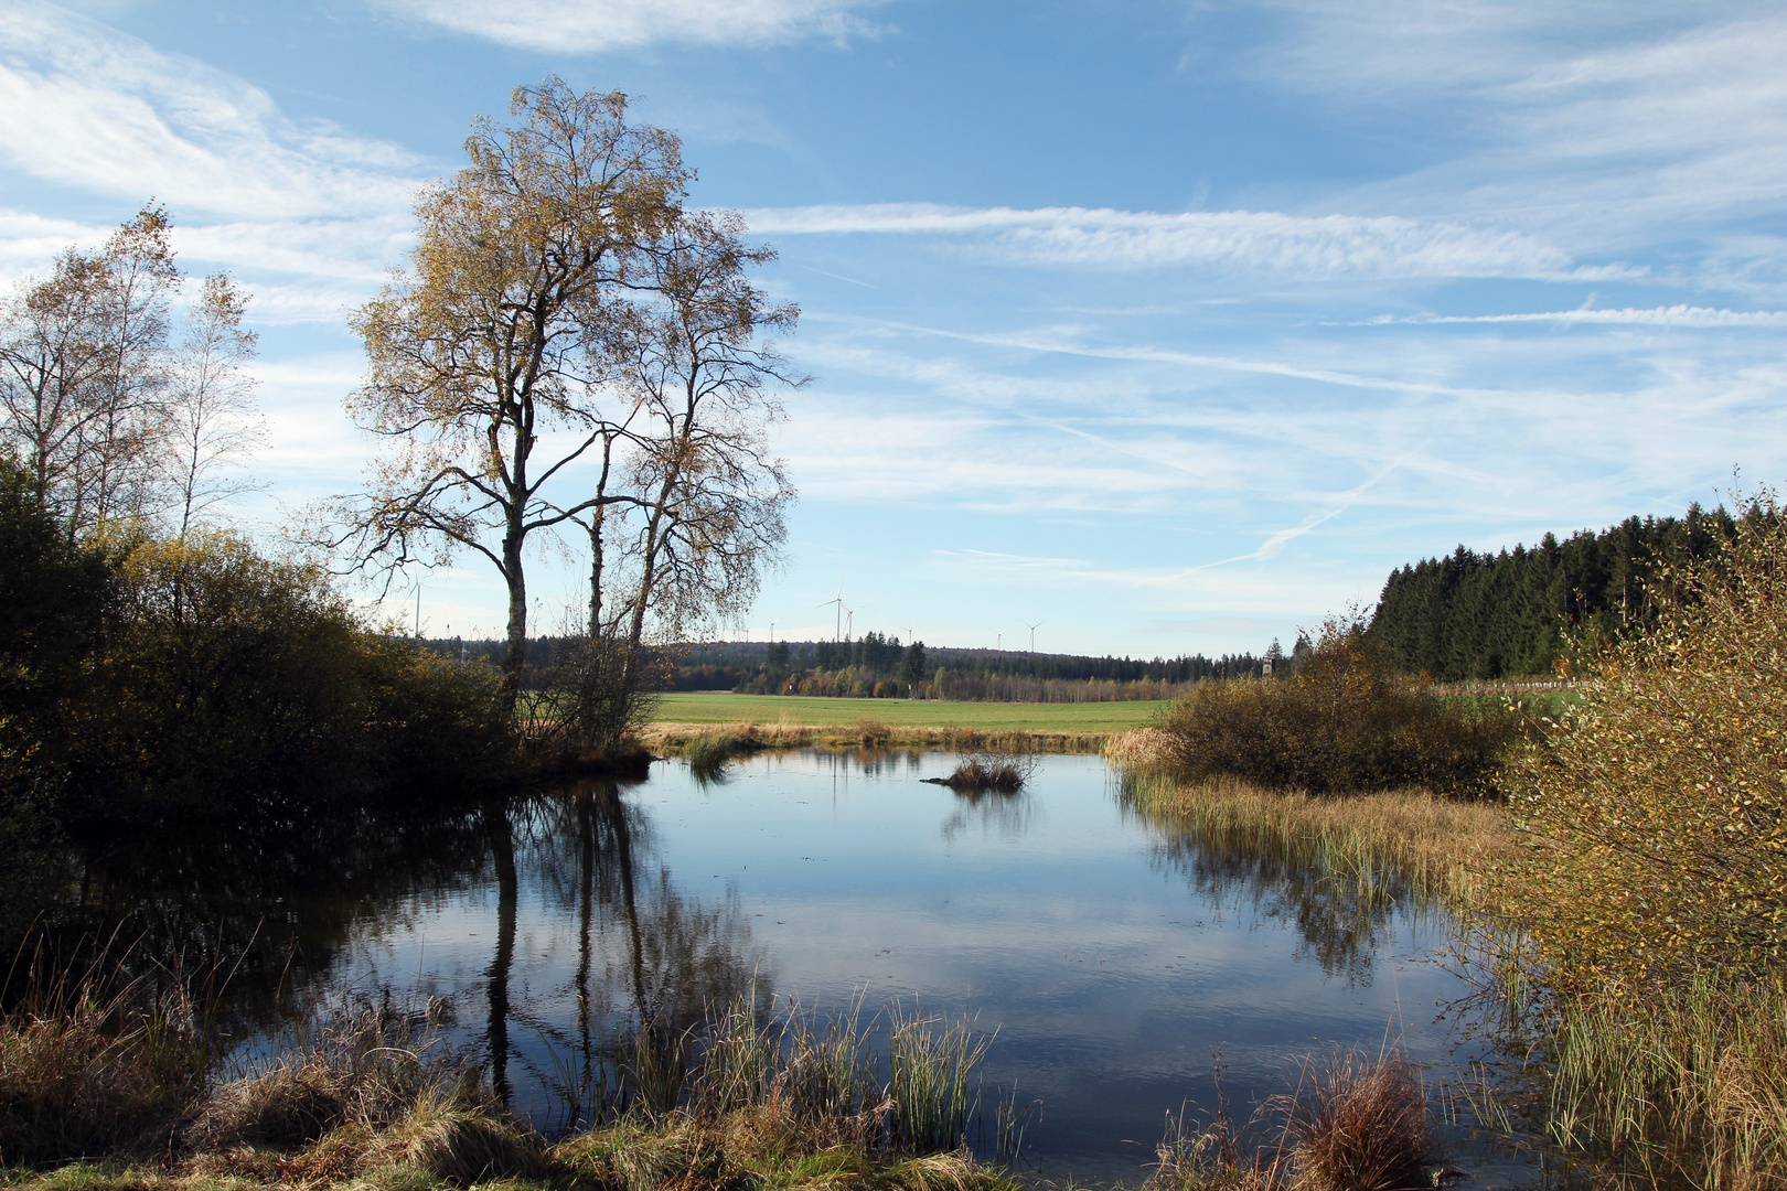
<svg viewBox="0 0 1787 1191">
<path fill-rule="evenodd" d="M 874 32 L 885 0 L 373 0 L 388 12 L 524 50 L 627 50 L 659 41 L 765 45 Z"/>
</svg>

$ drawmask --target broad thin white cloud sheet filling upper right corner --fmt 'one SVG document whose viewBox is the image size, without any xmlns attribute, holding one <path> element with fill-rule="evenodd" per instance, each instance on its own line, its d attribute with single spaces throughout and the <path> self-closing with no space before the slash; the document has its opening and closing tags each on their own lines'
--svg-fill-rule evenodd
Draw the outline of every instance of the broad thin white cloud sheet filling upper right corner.
<svg viewBox="0 0 1787 1191">
<path fill-rule="evenodd" d="M 1787 11 L 1707 4 L 1281 0 L 1254 71 L 1440 146 L 1349 207 L 1510 227 L 1573 255 L 1707 241 L 1787 198 Z M 1628 257 L 1630 259 L 1630 257 Z M 1691 268 L 1691 266 L 1689 266 Z"/>
</svg>

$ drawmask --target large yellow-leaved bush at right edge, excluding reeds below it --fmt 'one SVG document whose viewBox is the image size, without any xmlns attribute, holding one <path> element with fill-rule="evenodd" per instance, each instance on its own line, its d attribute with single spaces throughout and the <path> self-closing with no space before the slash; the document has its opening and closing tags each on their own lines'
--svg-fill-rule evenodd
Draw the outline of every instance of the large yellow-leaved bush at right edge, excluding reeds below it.
<svg viewBox="0 0 1787 1191">
<path fill-rule="evenodd" d="M 1778 971 L 1787 943 L 1787 525 L 1664 577 L 1657 629 L 1605 648 L 1583 702 L 1510 773 L 1501 873 L 1560 989 Z"/>
</svg>

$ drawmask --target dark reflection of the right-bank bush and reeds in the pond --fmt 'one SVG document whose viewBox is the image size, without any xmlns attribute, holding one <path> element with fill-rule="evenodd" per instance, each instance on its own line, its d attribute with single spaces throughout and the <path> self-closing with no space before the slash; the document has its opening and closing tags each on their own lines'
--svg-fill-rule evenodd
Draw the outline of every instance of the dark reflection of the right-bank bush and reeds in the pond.
<svg viewBox="0 0 1787 1191">
<path fill-rule="evenodd" d="M 1430 909 L 1390 866 L 1338 861 L 1319 839 L 1145 811 L 1138 816 L 1158 839 L 1156 868 L 1179 875 L 1217 905 L 1247 905 L 1288 921 L 1299 936 L 1299 955 L 1313 955 L 1326 975 L 1349 984 L 1371 984 L 1396 911 Z"/>
</svg>

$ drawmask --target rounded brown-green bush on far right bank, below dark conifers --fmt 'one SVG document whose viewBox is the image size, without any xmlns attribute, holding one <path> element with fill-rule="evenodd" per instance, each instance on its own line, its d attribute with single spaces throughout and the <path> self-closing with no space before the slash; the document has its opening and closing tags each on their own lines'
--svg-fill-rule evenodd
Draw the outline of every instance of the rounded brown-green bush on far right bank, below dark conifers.
<svg viewBox="0 0 1787 1191">
<path fill-rule="evenodd" d="M 1201 682 L 1162 723 L 1183 777 L 1238 777 L 1312 793 L 1426 786 L 1494 789 L 1510 714 L 1462 711 L 1394 675 L 1358 621 L 1328 621 L 1290 677 Z"/>
</svg>

